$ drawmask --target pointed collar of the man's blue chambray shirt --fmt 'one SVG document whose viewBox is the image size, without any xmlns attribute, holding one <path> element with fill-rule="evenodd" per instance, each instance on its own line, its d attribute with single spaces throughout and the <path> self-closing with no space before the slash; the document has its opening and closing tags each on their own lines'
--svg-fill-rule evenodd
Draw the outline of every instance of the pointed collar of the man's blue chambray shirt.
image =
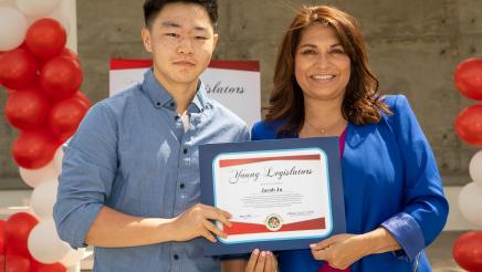
<svg viewBox="0 0 482 272">
<path fill-rule="evenodd" d="M 143 91 L 150 98 L 155 107 L 167 107 L 176 111 L 176 102 L 172 96 L 166 91 L 166 88 L 154 76 L 153 69 L 147 70 L 144 73 L 144 82 L 142 84 Z M 188 112 L 202 112 L 207 103 L 207 92 L 205 84 L 199 81 L 198 91 L 192 98 L 191 105 L 188 107 Z"/>
</svg>

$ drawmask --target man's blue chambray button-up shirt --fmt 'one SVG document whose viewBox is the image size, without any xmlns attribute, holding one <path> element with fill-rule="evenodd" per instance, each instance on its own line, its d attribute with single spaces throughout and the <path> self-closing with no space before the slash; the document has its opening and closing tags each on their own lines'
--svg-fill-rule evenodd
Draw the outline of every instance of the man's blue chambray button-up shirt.
<svg viewBox="0 0 482 272">
<path fill-rule="evenodd" d="M 199 202 L 198 146 L 249 140 L 247 125 L 209 100 L 202 84 L 188 107 L 189 129 L 154 77 L 93 106 L 64 147 L 54 219 L 62 240 L 85 247 L 103 206 L 139 217 L 174 218 Z M 114 227 L 113 227 L 114 228 Z M 134 248 L 95 248 L 94 271 L 219 271 L 201 238 Z"/>
</svg>

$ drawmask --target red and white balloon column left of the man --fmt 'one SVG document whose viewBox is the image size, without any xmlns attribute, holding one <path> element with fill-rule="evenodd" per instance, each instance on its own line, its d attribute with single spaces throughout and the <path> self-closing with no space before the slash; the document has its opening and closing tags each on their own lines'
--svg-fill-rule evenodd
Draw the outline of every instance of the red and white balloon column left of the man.
<svg viewBox="0 0 482 272">
<path fill-rule="evenodd" d="M 84 254 L 60 240 L 52 219 L 61 146 L 91 106 L 80 91 L 78 56 L 65 48 L 69 23 L 55 15 L 62 1 L 0 0 L 3 113 L 19 130 L 12 157 L 23 181 L 34 188 L 33 213 L 0 220 L 0 268 L 7 271 L 66 271 Z"/>
</svg>

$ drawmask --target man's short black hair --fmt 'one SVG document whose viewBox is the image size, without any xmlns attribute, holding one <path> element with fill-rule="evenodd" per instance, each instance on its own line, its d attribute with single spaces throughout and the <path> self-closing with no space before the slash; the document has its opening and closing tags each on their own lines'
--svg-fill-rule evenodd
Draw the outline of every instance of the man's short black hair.
<svg viewBox="0 0 482 272">
<path fill-rule="evenodd" d="M 146 0 L 144 3 L 144 20 L 146 27 L 151 27 L 153 21 L 166 4 L 176 2 L 199 4 L 208 12 L 212 27 L 216 27 L 218 23 L 218 0 Z"/>
</svg>

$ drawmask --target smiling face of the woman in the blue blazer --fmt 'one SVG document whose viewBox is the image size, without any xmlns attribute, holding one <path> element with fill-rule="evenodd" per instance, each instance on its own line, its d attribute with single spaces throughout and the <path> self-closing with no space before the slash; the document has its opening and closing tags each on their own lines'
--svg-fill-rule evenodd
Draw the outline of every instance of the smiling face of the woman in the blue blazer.
<svg viewBox="0 0 482 272">
<path fill-rule="evenodd" d="M 305 100 L 343 101 L 350 60 L 331 27 L 314 24 L 304 30 L 294 70 Z"/>
</svg>

